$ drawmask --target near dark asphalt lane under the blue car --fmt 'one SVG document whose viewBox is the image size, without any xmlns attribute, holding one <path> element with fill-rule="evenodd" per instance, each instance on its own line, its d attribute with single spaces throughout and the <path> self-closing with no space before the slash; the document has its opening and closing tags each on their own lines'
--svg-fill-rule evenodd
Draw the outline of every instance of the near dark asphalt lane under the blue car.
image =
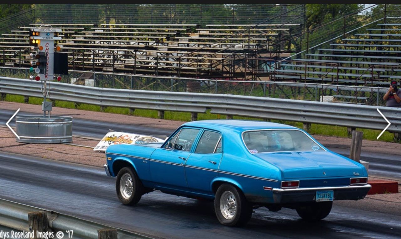
<svg viewBox="0 0 401 239">
<path fill-rule="evenodd" d="M 295 210 L 255 209 L 246 227 L 219 224 L 213 203 L 163 194 L 122 205 L 101 168 L 0 152 L 0 197 L 155 238 L 399 238 L 401 215 L 334 206 L 319 223 Z"/>
</svg>

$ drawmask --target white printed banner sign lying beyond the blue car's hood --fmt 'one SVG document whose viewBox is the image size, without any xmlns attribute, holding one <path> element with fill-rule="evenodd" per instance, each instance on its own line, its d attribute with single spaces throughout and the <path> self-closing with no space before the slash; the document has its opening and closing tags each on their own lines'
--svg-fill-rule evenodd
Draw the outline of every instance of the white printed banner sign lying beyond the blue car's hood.
<svg viewBox="0 0 401 239">
<path fill-rule="evenodd" d="M 109 132 L 96 145 L 93 151 L 106 151 L 110 145 L 114 144 L 143 144 L 143 143 L 163 143 L 164 139 L 159 139 L 148 135 L 136 135 L 123 132 Z"/>
</svg>

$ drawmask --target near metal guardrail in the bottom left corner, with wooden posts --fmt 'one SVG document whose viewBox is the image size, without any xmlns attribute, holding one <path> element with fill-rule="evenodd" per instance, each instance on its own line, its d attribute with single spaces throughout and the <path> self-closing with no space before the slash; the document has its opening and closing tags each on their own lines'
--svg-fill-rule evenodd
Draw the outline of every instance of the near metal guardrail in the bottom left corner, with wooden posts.
<svg viewBox="0 0 401 239">
<path fill-rule="evenodd" d="M 62 231 L 73 231 L 73 238 L 93 238 L 97 239 L 97 230 L 107 228 L 109 226 L 102 225 L 77 217 L 69 216 L 59 212 L 45 210 L 43 208 L 37 208 L 12 202 L 4 199 L 0 199 L 0 225 L 6 227 L 9 230 L 16 231 L 30 231 L 28 225 L 28 212 L 34 211 L 45 211 L 49 219 L 49 227 L 57 232 Z M 110 227 L 109 227 L 110 228 Z M 54 233 L 56 235 L 56 233 Z M 119 239 L 151 239 L 137 233 L 117 229 L 117 235 Z M 67 238 L 65 235 L 64 238 Z"/>
</svg>

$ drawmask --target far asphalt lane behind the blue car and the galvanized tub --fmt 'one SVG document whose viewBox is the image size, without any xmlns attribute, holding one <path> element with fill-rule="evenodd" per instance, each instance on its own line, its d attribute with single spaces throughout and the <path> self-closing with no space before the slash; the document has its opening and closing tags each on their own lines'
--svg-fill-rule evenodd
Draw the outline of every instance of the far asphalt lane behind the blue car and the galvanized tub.
<svg viewBox="0 0 401 239">
<path fill-rule="evenodd" d="M 14 114 L 10 110 L 0 109 L 0 125 L 4 125 L 8 119 Z M 32 113 L 18 112 L 19 115 L 32 115 Z M 10 123 L 14 126 L 14 120 Z M 78 118 L 73 118 L 73 134 L 86 137 L 102 138 L 109 129 L 114 131 L 123 131 L 126 133 L 138 133 L 144 135 L 170 135 L 171 130 L 158 129 L 154 127 L 147 127 L 146 125 L 123 125 L 116 123 L 89 121 Z M 341 148 L 332 148 L 328 145 L 328 149 L 340 153 L 346 157 L 349 155 L 349 150 Z M 390 153 L 371 153 L 361 152 L 361 159 L 369 162 L 369 174 L 390 177 L 401 180 L 401 157 L 400 151 L 395 149 L 395 154 Z"/>
</svg>

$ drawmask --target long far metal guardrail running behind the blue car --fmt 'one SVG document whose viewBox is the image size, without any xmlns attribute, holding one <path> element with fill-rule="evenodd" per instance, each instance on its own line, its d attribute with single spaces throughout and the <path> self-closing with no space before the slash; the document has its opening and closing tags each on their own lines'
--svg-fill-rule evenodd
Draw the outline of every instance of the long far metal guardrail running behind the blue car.
<svg viewBox="0 0 401 239">
<path fill-rule="evenodd" d="M 0 77 L 0 93 L 41 97 L 41 82 Z M 98 106 L 140 108 L 266 118 L 321 125 L 383 130 L 387 123 L 378 108 L 391 122 L 389 132 L 401 133 L 401 108 L 351 105 L 268 97 L 121 90 L 52 82 L 50 99 Z M 195 115 L 194 114 L 194 115 Z M 193 117 L 194 119 L 196 116 Z"/>
</svg>

